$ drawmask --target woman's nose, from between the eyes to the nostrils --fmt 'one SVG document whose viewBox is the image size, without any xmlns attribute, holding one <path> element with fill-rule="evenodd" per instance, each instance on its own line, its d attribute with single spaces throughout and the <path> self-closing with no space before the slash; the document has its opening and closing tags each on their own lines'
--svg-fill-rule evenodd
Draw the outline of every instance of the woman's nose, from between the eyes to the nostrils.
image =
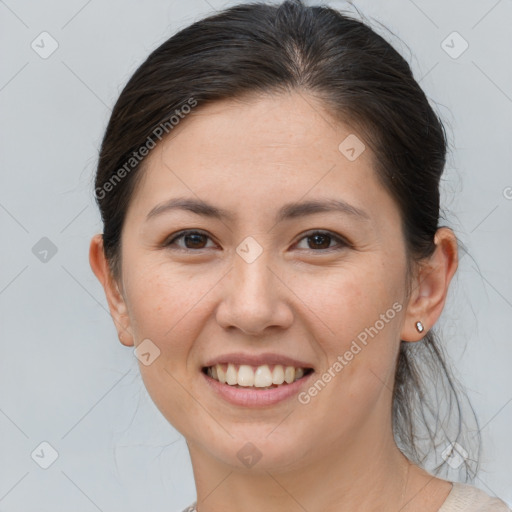
<svg viewBox="0 0 512 512">
<path fill-rule="evenodd" d="M 235 254 L 233 267 L 223 280 L 222 301 L 216 312 L 219 325 L 255 336 L 271 327 L 286 329 L 292 324 L 289 299 L 293 293 L 271 266 L 266 251 L 251 263 Z"/>
</svg>

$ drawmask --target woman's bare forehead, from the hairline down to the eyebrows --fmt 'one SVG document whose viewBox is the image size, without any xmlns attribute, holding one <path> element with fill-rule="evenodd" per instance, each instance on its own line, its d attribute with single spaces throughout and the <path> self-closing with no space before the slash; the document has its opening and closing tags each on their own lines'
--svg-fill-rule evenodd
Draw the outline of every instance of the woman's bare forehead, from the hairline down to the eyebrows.
<svg viewBox="0 0 512 512">
<path fill-rule="evenodd" d="M 347 158 L 347 144 L 356 158 Z M 147 215 L 188 196 L 261 215 L 292 201 L 338 197 L 371 212 L 387 193 L 363 144 L 305 93 L 198 105 L 147 157 L 135 208 Z"/>
</svg>

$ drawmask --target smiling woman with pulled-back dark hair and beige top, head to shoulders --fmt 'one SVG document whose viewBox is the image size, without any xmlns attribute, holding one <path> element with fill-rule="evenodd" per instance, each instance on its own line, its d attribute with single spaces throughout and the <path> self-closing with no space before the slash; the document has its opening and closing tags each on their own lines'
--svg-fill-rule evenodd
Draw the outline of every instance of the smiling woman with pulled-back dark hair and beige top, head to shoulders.
<svg viewBox="0 0 512 512">
<path fill-rule="evenodd" d="M 432 327 L 457 269 L 445 157 L 408 64 L 326 7 L 228 9 L 136 71 L 101 148 L 90 262 L 187 440 L 189 510 L 508 510 L 415 444 L 412 347 L 445 370 Z"/>
</svg>

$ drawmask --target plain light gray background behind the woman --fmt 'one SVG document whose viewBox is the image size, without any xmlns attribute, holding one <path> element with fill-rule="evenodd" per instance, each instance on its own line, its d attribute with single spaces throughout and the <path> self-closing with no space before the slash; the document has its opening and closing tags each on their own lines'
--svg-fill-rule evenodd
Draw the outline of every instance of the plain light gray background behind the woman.
<svg viewBox="0 0 512 512">
<path fill-rule="evenodd" d="M 171 512 L 195 499 L 186 444 L 148 397 L 89 267 L 102 230 L 92 179 L 135 68 L 178 28 L 234 3 L 0 1 L 0 511 Z M 512 504 L 512 2 L 354 4 L 410 47 L 382 32 L 455 146 L 443 201 L 473 259 L 462 254 L 438 326 L 482 426 L 475 485 Z M 46 59 L 31 48 L 43 31 L 59 45 Z M 469 44 L 458 58 L 441 46 L 453 31 Z M 32 251 L 42 237 L 57 248 L 46 262 Z M 43 441 L 58 452 L 48 469 L 31 458 Z"/>
</svg>

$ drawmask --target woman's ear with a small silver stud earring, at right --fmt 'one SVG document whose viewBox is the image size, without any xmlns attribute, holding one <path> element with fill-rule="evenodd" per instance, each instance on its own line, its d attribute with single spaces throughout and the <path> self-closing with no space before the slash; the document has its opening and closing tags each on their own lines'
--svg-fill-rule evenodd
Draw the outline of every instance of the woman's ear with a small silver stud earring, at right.
<svg viewBox="0 0 512 512">
<path fill-rule="evenodd" d="M 449 228 L 439 228 L 434 236 L 436 249 L 422 262 L 412 283 L 400 339 L 419 341 L 437 322 L 443 311 L 448 287 L 458 266 L 457 238 Z M 425 330 L 418 332 L 416 322 Z"/>
</svg>

